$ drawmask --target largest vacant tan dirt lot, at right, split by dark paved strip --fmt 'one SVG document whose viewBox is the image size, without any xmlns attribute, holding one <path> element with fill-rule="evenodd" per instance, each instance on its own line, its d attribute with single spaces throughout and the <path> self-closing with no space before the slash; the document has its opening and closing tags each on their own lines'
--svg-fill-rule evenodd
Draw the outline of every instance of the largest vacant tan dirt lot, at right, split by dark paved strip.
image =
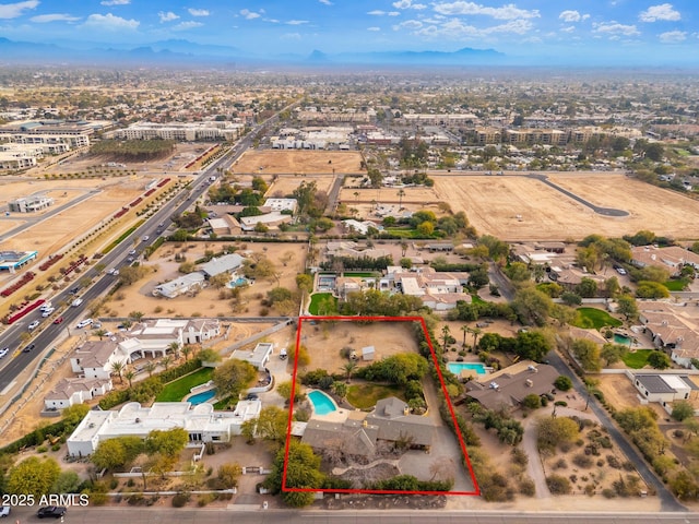
<svg viewBox="0 0 699 524">
<path fill-rule="evenodd" d="M 556 174 L 550 180 L 596 205 L 617 207 L 607 217 L 543 182 L 519 176 L 436 176 L 438 200 L 464 211 L 478 233 L 503 240 L 618 237 L 640 229 L 675 238 L 699 237 L 699 202 L 617 174 Z M 411 188 L 406 190 L 406 196 Z M 420 190 L 424 191 L 424 190 Z"/>
</svg>

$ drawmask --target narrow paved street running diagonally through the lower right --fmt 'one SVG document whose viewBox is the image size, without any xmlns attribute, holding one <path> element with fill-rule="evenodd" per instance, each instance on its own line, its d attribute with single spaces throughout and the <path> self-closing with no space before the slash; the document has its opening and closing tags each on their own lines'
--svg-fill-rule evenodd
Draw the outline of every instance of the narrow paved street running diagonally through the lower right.
<svg viewBox="0 0 699 524">
<path fill-rule="evenodd" d="M 549 352 L 547 358 L 549 364 L 554 366 L 560 374 L 570 377 L 576 392 L 580 396 L 585 398 L 588 393 L 585 391 L 584 384 L 576 373 L 571 372 L 570 368 L 568 367 L 568 365 L 566 365 L 562 358 L 560 358 L 560 356 L 556 352 Z M 621 434 L 621 431 L 617 428 L 614 420 L 612 420 L 612 417 L 609 417 L 608 413 L 596 403 L 594 397 L 590 398 L 590 409 L 592 409 L 592 412 L 597 416 L 602 426 L 608 429 L 609 434 L 616 441 L 619 449 L 626 454 L 628 460 L 636 465 L 636 469 L 638 471 L 641 478 L 643 478 L 645 484 L 653 487 L 661 500 L 663 511 L 686 511 L 686 508 L 677 502 L 675 497 L 667 490 L 665 485 L 661 480 L 659 480 L 653 472 L 651 472 L 650 467 L 648 466 L 639 451 L 636 449 L 636 446 L 633 446 L 628 440 L 626 440 L 625 436 Z"/>
</svg>

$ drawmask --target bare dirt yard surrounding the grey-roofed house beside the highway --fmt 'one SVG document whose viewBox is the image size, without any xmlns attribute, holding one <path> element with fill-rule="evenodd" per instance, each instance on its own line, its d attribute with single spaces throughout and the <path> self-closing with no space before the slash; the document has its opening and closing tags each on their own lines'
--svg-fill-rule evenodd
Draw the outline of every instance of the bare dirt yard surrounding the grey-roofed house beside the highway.
<svg viewBox="0 0 699 524">
<path fill-rule="evenodd" d="M 222 296 L 222 290 L 206 287 L 197 296 L 178 296 L 175 298 L 154 297 L 153 288 L 163 282 L 171 281 L 181 276 L 178 272 L 179 262 L 176 262 L 175 254 L 185 255 L 188 261 L 194 261 L 204 257 L 208 250 L 217 252 L 223 249 L 221 242 L 188 242 L 188 243 L 164 243 L 144 265 L 156 270 L 141 281 L 131 286 L 122 287 L 116 295 L 115 299 L 107 303 L 110 312 L 108 314 L 123 315 L 129 311 L 142 311 L 146 315 L 168 314 L 181 317 L 257 317 L 260 314 L 263 306 L 260 299 L 266 295 L 270 289 L 281 286 L 295 290 L 296 275 L 303 272 L 305 261 L 305 250 L 300 249 L 300 245 L 295 243 L 237 243 L 241 255 L 264 255 L 274 264 L 280 273 L 279 283 L 275 278 L 258 279 L 251 286 L 242 291 L 242 307 L 238 311 L 234 311 L 230 300 Z M 289 259 L 286 265 L 282 259 Z M 157 310 L 157 311 L 156 311 Z M 295 311 L 291 312 L 292 314 Z M 272 309 L 270 314 L 279 314 L 279 311 Z"/>
</svg>

